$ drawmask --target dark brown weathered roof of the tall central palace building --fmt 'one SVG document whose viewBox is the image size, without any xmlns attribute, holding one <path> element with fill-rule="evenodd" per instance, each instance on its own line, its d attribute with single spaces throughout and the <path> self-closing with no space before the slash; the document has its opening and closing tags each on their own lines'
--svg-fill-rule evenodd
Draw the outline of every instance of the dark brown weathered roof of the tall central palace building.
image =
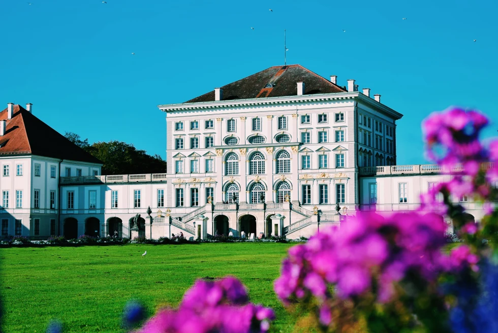
<svg viewBox="0 0 498 333">
<path fill-rule="evenodd" d="M 223 101 L 260 97 L 296 96 L 297 82 L 304 82 L 304 94 L 346 92 L 345 88 L 305 69 L 303 66 L 272 66 L 223 86 Z M 268 87 L 266 87 L 268 86 Z M 212 102 L 214 89 L 185 103 Z"/>
</svg>

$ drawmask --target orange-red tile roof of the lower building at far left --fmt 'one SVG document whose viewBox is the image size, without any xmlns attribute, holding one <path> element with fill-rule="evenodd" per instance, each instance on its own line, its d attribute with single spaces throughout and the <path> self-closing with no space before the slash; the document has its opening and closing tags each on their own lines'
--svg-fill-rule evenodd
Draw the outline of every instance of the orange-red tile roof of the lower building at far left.
<svg viewBox="0 0 498 333">
<path fill-rule="evenodd" d="M 102 164 L 19 105 L 14 105 L 12 119 L 7 119 L 5 109 L 0 120 L 7 120 L 5 135 L 0 137 L 0 155 L 33 154 Z"/>
</svg>

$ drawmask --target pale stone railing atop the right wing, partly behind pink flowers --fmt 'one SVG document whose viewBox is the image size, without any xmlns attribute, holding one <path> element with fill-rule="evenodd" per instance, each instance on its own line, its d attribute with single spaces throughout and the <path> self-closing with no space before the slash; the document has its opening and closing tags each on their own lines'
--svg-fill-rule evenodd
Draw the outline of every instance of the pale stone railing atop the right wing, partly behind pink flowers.
<svg viewBox="0 0 498 333">
<path fill-rule="evenodd" d="M 489 170 L 493 168 L 493 165 L 491 162 L 482 163 L 481 170 Z M 463 170 L 462 164 L 455 164 L 449 170 L 445 170 L 438 164 L 384 165 L 382 167 L 360 167 L 360 176 L 458 173 Z"/>
</svg>

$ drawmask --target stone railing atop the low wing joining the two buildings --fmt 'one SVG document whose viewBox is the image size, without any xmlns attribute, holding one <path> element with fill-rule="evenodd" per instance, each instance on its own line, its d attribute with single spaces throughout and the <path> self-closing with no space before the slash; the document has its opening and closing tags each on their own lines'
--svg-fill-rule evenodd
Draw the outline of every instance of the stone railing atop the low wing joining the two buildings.
<svg viewBox="0 0 498 333">
<path fill-rule="evenodd" d="M 137 174 L 109 176 L 73 176 L 60 177 L 60 184 L 112 184 L 112 183 L 142 183 L 165 182 L 166 174 Z"/>
</svg>

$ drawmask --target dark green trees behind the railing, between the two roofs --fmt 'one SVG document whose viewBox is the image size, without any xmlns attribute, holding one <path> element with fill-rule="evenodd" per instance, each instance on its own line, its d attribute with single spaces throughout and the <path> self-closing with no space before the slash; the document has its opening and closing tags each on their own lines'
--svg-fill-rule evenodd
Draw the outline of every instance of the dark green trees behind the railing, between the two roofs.
<svg viewBox="0 0 498 333">
<path fill-rule="evenodd" d="M 120 141 L 94 142 L 88 144 L 88 139 L 66 132 L 65 137 L 81 147 L 92 156 L 100 159 L 103 175 L 153 174 L 165 173 L 166 161 L 155 154 L 148 155 L 145 150 L 135 148 L 133 144 Z"/>
</svg>

